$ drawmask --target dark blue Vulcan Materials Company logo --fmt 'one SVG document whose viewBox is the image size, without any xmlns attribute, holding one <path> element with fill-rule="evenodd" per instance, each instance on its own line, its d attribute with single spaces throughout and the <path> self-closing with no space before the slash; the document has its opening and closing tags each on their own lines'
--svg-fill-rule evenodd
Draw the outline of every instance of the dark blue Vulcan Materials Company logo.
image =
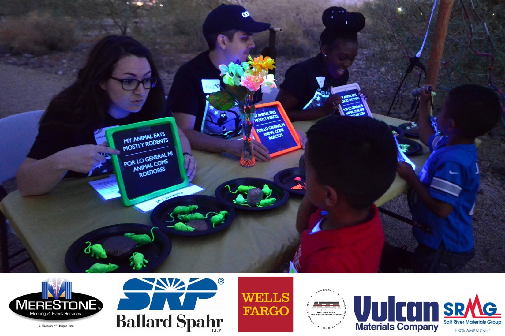
<svg viewBox="0 0 505 336">
<path fill-rule="evenodd" d="M 429 323 L 438 322 L 438 302 L 396 301 L 394 296 L 388 296 L 387 301 L 377 302 L 372 301 L 370 296 L 355 296 L 354 313 L 359 322 L 356 323 L 356 330 L 436 332 L 438 329 L 438 323 Z"/>
</svg>

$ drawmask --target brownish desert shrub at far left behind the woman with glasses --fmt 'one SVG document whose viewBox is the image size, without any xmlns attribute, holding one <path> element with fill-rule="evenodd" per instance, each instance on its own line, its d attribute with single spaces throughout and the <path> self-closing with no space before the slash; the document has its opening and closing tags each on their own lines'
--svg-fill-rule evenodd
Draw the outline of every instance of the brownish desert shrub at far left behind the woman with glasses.
<svg viewBox="0 0 505 336">
<path fill-rule="evenodd" d="M 76 33 L 68 18 L 33 12 L 5 19 L 0 24 L 0 44 L 14 54 L 43 55 L 71 49 L 77 42 Z"/>
</svg>

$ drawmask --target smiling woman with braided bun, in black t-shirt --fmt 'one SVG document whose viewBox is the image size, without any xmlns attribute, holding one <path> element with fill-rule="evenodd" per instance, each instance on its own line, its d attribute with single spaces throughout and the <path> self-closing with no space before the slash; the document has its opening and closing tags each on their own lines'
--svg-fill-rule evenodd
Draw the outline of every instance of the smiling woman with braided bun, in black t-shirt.
<svg viewBox="0 0 505 336">
<path fill-rule="evenodd" d="M 291 121 L 312 120 L 332 114 L 342 99 L 330 94 L 334 86 L 347 84 L 349 68 L 358 55 L 358 32 L 365 27 L 361 13 L 330 7 L 323 12 L 319 47 L 313 58 L 286 71 L 277 95 Z"/>
</svg>

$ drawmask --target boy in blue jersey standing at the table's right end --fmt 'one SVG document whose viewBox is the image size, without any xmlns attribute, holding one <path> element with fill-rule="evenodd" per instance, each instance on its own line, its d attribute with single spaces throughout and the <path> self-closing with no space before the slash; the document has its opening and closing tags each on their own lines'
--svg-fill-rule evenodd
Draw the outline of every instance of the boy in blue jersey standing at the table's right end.
<svg viewBox="0 0 505 336">
<path fill-rule="evenodd" d="M 412 188 L 409 207 L 413 220 L 428 225 L 433 233 L 413 229 L 419 245 L 409 258 L 409 268 L 414 272 L 456 272 L 475 254 L 472 215 L 479 190 L 475 138 L 496 125 L 501 106 L 489 88 L 473 84 L 455 87 L 437 118 L 444 135 L 438 136 L 431 127 L 431 94 L 425 93 L 424 87 L 422 92 L 419 139 L 432 154 L 419 177 L 405 162 L 398 163 L 398 174 Z M 387 254 L 385 250 L 383 263 Z"/>
</svg>

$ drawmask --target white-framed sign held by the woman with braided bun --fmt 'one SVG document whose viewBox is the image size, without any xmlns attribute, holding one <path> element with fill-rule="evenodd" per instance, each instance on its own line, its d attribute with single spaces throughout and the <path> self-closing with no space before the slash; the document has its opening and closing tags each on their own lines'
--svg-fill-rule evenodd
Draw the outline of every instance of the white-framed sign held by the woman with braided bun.
<svg viewBox="0 0 505 336">
<path fill-rule="evenodd" d="M 331 94 L 336 93 L 342 98 L 342 103 L 338 106 L 340 115 L 372 117 L 367 101 L 363 99 L 360 90 L 360 85 L 358 85 L 358 83 L 335 86 L 331 89 Z"/>
</svg>

